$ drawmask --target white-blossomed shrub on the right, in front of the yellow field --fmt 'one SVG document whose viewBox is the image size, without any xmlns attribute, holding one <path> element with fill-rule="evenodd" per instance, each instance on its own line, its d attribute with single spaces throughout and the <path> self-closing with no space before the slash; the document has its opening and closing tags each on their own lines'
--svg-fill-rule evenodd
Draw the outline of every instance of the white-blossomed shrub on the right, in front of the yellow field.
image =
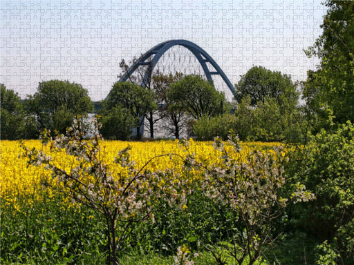
<svg viewBox="0 0 354 265">
<path fill-rule="evenodd" d="M 285 154 L 281 148 L 275 154 L 254 151 L 242 155 L 237 137 L 230 137 L 229 144 L 233 146 L 232 153 L 227 153 L 223 141 L 215 139 L 214 148 L 221 153 L 221 163 L 204 166 L 202 188 L 208 197 L 230 206 L 238 215 L 232 244 L 225 246 L 227 255 L 236 264 L 254 264 L 261 258 L 263 248 L 274 240 L 273 222 L 284 208 L 290 202 L 313 199 L 313 194 L 301 184 L 294 190 L 285 188 L 281 166 Z"/>
</svg>

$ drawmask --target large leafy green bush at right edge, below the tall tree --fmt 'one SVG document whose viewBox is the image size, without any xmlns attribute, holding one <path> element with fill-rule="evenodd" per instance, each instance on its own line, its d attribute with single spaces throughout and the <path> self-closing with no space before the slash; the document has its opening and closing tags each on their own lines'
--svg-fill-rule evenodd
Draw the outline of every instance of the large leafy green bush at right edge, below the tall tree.
<svg viewBox="0 0 354 265">
<path fill-rule="evenodd" d="M 310 204 L 292 209 L 292 222 L 323 242 L 327 240 L 344 264 L 353 264 L 353 124 L 348 121 L 335 133 L 322 130 L 302 150 L 292 153 L 286 170 L 316 197 Z"/>
</svg>

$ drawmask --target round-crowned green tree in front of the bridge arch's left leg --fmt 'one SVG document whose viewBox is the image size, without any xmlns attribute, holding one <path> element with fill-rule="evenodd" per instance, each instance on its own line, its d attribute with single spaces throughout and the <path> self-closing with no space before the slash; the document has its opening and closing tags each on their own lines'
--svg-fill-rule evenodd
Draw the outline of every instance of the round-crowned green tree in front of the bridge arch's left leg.
<svg viewBox="0 0 354 265">
<path fill-rule="evenodd" d="M 145 115 L 158 108 L 155 95 L 151 90 L 129 82 L 115 82 L 105 104 L 108 110 L 116 106 L 121 106 L 129 110 L 131 115 L 137 120 L 136 137 L 138 137 L 138 139 L 140 139 L 142 135 L 140 130 Z"/>
</svg>

